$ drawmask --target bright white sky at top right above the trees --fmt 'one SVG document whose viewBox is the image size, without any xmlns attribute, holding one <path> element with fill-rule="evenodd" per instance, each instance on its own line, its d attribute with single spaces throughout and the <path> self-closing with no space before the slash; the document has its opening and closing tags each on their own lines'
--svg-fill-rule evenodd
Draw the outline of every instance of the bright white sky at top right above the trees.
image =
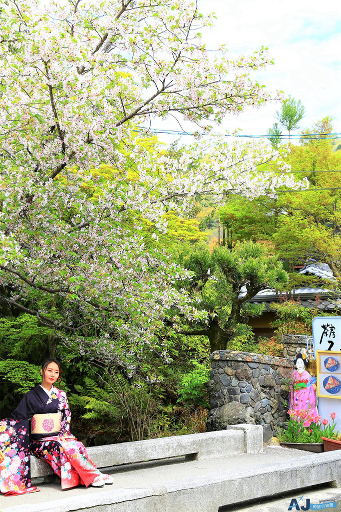
<svg viewBox="0 0 341 512">
<path fill-rule="evenodd" d="M 197 0 L 203 13 L 214 11 L 214 29 L 202 32 L 211 50 L 225 44 L 231 57 L 268 47 L 274 66 L 252 73 L 269 91 L 300 99 L 306 128 L 325 116 L 341 133 L 341 2 L 328 0 Z M 276 122 L 279 102 L 227 116 L 226 131 L 264 135 Z M 169 122 L 167 123 L 168 127 Z M 159 127 L 159 126 L 158 126 Z M 160 126 L 161 127 L 161 126 Z M 174 125 L 173 129 L 177 129 Z M 188 128 L 188 126 L 187 126 Z M 181 137 L 188 143 L 190 137 Z M 166 140 L 165 140 L 166 141 Z M 168 140 L 169 141 L 169 140 Z"/>
</svg>

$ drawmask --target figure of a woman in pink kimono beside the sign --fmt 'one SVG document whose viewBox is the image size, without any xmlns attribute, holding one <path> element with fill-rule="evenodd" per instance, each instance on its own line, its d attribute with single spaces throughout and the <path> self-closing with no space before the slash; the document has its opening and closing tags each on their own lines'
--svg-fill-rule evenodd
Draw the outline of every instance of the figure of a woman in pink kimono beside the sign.
<svg viewBox="0 0 341 512">
<path fill-rule="evenodd" d="M 293 370 L 293 390 L 289 396 L 290 411 L 304 420 L 303 425 L 309 426 L 319 415 L 316 409 L 316 377 L 311 377 L 305 367 L 308 365 L 306 354 L 297 354 L 293 360 L 296 370 Z"/>
</svg>

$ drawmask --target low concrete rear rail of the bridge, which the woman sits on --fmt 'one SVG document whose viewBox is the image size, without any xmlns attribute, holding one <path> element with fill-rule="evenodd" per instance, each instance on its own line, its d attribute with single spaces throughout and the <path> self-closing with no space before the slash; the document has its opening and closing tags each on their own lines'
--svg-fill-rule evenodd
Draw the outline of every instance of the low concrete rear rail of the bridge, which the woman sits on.
<svg viewBox="0 0 341 512">
<path fill-rule="evenodd" d="M 225 431 L 91 446 L 86 451 L 99 468 L 180 456 L 197 460 L 212 459 L 220 454 L 227 457 L 260 453 L 263 450 L 262 433 L 260 426 L 234 425 Z M 32 478 L 52 474 L 53 470 L 46 461 L 31 457 Z"/>
</svg>

